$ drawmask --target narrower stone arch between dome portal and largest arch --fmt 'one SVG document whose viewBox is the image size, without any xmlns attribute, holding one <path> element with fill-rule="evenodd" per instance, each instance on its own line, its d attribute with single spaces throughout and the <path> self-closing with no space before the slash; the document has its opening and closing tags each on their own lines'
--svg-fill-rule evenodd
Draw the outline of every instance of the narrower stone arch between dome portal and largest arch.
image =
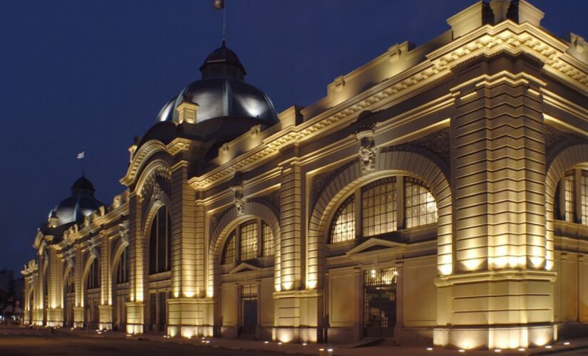
<svg viewBox="0 0 588 356">
<path fill-rule="evenodd" d="M 279 241 L 280 229 L 279 219 L 274 213 L 274 210 L 269 206 L 257 201 L 245 201 L 245 214 L 237 216 L 237 211 L 232 207 L 222 218 L 218 221 L 212 233 L 210 234 L 209 258 L 208 258 L 208 280 L 207 280 L 207 296 L 212 297 L 215 288 L 215 276 L 220 265 L 220 256 L 222 254 L 222 246 L 229 236 L 229 233 L 238 224 L 249 219 L 260 218 L 265 221 L 274 234 L 274 243 L 276 245 L 276 253 L 274 255 L 274 278 L 276 286 L 279 286 Z"/>
</svg>

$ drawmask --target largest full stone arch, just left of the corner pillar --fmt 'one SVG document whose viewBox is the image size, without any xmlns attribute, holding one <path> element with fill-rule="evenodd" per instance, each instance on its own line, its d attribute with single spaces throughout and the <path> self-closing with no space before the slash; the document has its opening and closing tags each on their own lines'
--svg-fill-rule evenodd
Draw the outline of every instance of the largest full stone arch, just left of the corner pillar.
<svg viewBox="0 0 588 356">
<path fill-rule="evenodd" d="M 378 155 L 376 172 L 362 174 L 358 159 L 341 169 L 329 184 L 321 190 L 314 202 L 309 219 L 306 245 L 306 286 L 315 288 L 321 282 L 319 273 L 323 270 L 324 244 L 329 216 L 336 204 L 351 190 L 373 179 L 386 177 L 398 172 L 408 172 L 428 184 L 435 197 L 438 210 L 438 272 L 448 275 L 453 271 L 453 212 L 451 207 L 451 188 L 448 177 L 431 159 L 415 152 L 401 150 L 381 150 Z"/>
</svg>

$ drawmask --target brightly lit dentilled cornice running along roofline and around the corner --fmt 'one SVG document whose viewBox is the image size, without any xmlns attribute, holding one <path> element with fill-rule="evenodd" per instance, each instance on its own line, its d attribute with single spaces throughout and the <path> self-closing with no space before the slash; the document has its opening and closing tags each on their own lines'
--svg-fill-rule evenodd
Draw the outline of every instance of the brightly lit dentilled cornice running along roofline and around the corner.
<svg viewBox="0 0 588 356">
<path fill-rule="evenodd" d="M 460 63 L 482 55 L 492 56 L 501 51 L 512 55 L 530 54 L 545 63 L 547 72 L 554 73 L 583 93 L 588 93 L 588 66 L 566 53 L 567 44 L 564 41 L 529 23 L 503 21 L 497 26 L 485 25 L 430 52 L 426 56 L 427 60 L 413 68 L 384 80 L 383 83 L 299 126 L 288 127 L 287 130 L 267 137 L 262 147 L 234 157 L 201 177 L 190 179 L 190 185 L 195 189 L 206 189 L 211 184 L 223 182 L 235 171 L 247 170 L 253 164 L 260 164 L 267 157 L 279 154 L 279 150 L 285 145 L 327 135 L 345 122 L 354 120 L 363 110 L 375 111 L 391 103 L 398 103 L 401 99 L 406 100 L 411 93 L 450 75 L 450 70 Z"/>
</svg>

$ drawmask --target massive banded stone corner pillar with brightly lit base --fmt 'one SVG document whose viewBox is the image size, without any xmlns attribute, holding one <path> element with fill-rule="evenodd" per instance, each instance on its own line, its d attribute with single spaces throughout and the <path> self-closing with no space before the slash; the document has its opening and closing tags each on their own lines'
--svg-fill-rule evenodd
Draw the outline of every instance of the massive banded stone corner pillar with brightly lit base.
<svg viewBox="0 0 588 356">
<path fill-rule="evenodd" d="M 437 345 L 518 348 L 554 337 L 541 66 L 497 55 L 454 70 L 455 268 L 436 281 Z"/>
</svg>

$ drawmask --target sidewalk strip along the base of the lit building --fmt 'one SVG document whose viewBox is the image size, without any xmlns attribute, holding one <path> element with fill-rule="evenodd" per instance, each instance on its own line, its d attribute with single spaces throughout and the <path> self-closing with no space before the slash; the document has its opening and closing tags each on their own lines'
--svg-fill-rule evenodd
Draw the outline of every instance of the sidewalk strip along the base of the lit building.
<svg viewBox="0 0 588 356">
<path fill-rule="evenodd" d="M 150 340 L 153 342 L 175 342 L 183 345 L 197 345 L 202 347 L 222 347 L 229 350 L 253 350 L 253 351 L 273 351 L 284 352 L 289 355 L 349 355 L 349 356 L 384 356 L 384 355 L 497 355 L 493 350 L 486 351 L 465 351 L 448 350 L 444 348 L 433 348 L 427 350 L 427 347 L 406 347 L 406 346 L 366 346 L 356 348 L 345 348 L 343 345 L 328 345 L 328 344 L 288 344 L 272 341 L 259 340 L 242 340 L 242 339 L 225 339 L 225 338 L 200 338 L 194 337 L 187 339 L 185 337 L 165 337 L 158 334 L 144 334 L 127 336 L 125 333 L 118 331 L 107 331 L 98 333 L 96 330 L 71 330 L 60 328 L 56 330 L 56 334 L 76 335 L 79 337 L 113 337 L 129 340 Z M 582 339 L 569 340 L 569 345 L 564 345 L 564 342 L 556 342 L 551 348 L 535 347 L 530 350 L 501 350 L 500 355 L 550 355 L 557 354 L 562 351 L 579 350 L 588 348 L 588 337 Z"/>
</svg>

